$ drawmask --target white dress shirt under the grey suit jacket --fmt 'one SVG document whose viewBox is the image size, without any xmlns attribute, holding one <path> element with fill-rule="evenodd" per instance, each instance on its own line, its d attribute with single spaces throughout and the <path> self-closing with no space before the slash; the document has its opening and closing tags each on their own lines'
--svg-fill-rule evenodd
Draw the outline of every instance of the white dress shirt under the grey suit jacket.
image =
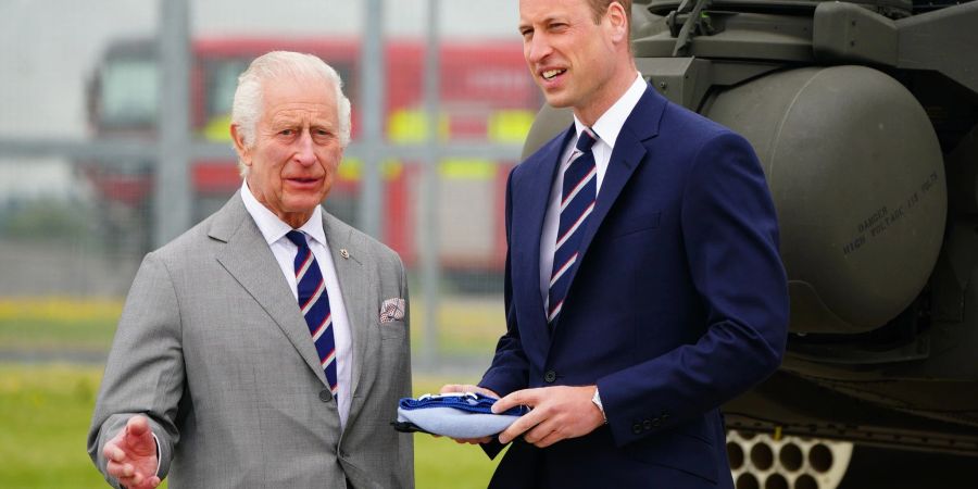
<svg viewBox="0 0 978 489">
<path fill-rule="evenodd" d="M 247 181 L 241 186 L 241 200 L 244 201 L 244 209 L 251 214 L 259 230 L 262 231 L 262 236 L 265 237 L 265 242 L 272 249 L 272 254 L 278 261 L 281 274 L 285 275 L 292 296 L 296 297 L 296 308 L 298 309 L 299 286 L 296 283 L 294 260 L 299 247 L 286 238 L 286 233 L 292 230 L 292 227 L 284 223 L 268 208 L 259 202 L 251 193 L 251 189 L 248 188 Z M 336 341 L 336 376 L 340 426 L 346 426 L 352 397 L 350 392 L 350 369 L 353 365 L 353 341 L 350 321 L 347 317 L 347 308 L 343 305 L 343 294 L 339 288 L 339 280 L 336 278 L 336 266 L 333 263 L 333 255 L 329 253 L 329 243 L 326 242 L 326 233 L 323 230 L 323 209 L 319 205 L 316 205 L 312 217 L 299 230 L 305 233 L 309 248 L 312 250 L 313 255 L 316 256 L 319 272 L 326 280 L 326 293 L 329 294 L 329 312 L 333 314 L 333 338 Z M 312 336 L 310 336 L 309 340 L 312 342 Z"/>
</svg>

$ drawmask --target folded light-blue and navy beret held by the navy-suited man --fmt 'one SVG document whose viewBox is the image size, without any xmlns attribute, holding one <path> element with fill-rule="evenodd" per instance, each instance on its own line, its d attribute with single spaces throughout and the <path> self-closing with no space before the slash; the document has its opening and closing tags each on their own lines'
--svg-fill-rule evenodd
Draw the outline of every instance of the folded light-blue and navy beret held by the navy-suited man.
<svg viewBox="0 0 978 489">
<path fill-rule="evenodd" d="M 475 392 L 424 394 L 403 398 L 398 403 L 399 431 L 424 431 L 450 438 L 481 438 L 496 435 L 529 412 L 526 406 L 492 414 L 498 399 Z"/>
</svg>

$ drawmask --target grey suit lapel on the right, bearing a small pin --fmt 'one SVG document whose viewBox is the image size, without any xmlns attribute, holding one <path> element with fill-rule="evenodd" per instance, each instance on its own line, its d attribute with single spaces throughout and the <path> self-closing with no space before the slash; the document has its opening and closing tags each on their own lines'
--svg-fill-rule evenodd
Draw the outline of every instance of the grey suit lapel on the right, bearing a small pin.
<svg viewBox="0 0 978 489">
<path fill-rule="evenodd" d="M 323 212 L 323 230 L 329 244 L 329 254 L 336 268 L 336 279 L 342 293 L 343 308 L 350 322 L 350 335 L 353 342 L 353 364 L 350 369 L 350 393 L 356 400 L 356 386 L 363 378 L 364 368 L 371 365 L 366 359 L 376 356 L 377 341 L 367 338 L 371 322 L 371 303 L 367 294 L 367 280 L 361 260 L 362 249 L 353 242 L 352 228 L 341 224 L 325 211 Z M 344 253 L 346 251 L 346 253 Z M 379 311 L 375 311 L 379 314 Z M 351 405 L 350 412 L 356 412 Z"/>
</svg>

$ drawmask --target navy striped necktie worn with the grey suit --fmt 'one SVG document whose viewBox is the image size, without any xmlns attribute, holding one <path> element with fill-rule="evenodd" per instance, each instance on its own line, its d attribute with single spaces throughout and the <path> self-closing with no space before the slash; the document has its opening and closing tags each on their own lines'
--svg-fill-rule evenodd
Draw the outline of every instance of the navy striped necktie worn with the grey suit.
<svg viewBox="0 0 978 489">
<path fill-rule="evenodd" d="M 309 333 L 312 335 L 319 365 L 326 372 L 326 381 L 336 399 L 336 341 L 333 338 L 333 314 L 329 312 L 329 296 L 326 293 L 326 281 L 319 271 L 316 258 L 309 249 L 309 242 L 302 231 L 286 233 L 299 251 L 296 253 L 296 284 L 299 291 L 299 309 L 305 317 Z"/>
</svg>

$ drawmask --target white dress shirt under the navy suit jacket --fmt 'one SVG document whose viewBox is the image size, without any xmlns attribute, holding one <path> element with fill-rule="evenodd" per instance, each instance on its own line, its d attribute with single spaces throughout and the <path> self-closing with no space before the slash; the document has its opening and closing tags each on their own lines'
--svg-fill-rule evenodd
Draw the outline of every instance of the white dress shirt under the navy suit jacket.
<svg viewBox="0 0 978 489">
<path fill-rule="evenodd" d="M 594 146 L 591 147 L 591 153 L 594 154 L 594 164 L 598 170 L 597 184 L 598 195 L 601 195 L 601 183 L 604 180 L 604 174 L 607 173 L 607 165 L 611 161 L 611 153 L 615 149 L 615 141 L 618 139 L 618 133 L 625 126 L 625 120 L 631 114 L 635 105 L 638 104 L 642 93 L 645 92 L 645 80 L 642 74 L 637 73 L 635 82 L 628 87 L 628 90 L 611 106 L 607 111 L 598 117 L 591 130 L 598 136 Z M 577 130 L 577 138 L 568 141 L 567 147 L 561 154 L 561 167 L 557 170 L 556 177 L 553 179 L 553 186 L 550 189 L 550 203 L 547 205 L 547 213 L 543 215 L 543 236 L 540 238 L 540 294 L 543 296 L 543 314 L 547 314 L 550 308 L 550 277 L 553 275 L 553 252 L 556 248 L 556 234 L 561 224 L 561 197 L 564 189 L 564 171 L 570 164 L 570 153 L 577 146 L 577 139 L 585 125 L 574 116 L 574 127 Z M 600 198 L 599 198 L 600 199 Z M 590 224 L 589 224 L 590 225 Z"/>
</svg>

